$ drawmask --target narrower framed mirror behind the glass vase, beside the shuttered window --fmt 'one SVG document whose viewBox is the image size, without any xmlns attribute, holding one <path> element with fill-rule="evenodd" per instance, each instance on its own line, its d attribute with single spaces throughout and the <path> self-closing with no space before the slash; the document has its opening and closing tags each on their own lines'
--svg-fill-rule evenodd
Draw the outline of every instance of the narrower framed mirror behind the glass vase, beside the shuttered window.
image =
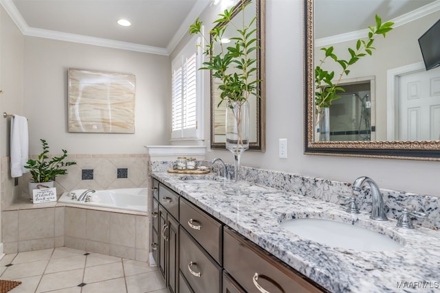
<svg viewBox="0 0 440 293">
<path fill-rule="evenodd" d="M 245 3 L 251 0 L 246 0 Z M 258 59 L 257 71 L 255 78 L 261 80 L 259 82 L 260 97 L 250 97 L 250 142 L 249 150 L 265 151 L 265 0 L 252 0 L 252 2 L 245 7 L 245 10 L 239 9 L 242 5 L 241 1 L 234 8 L 232 21 L 241 23 L 245 17 L 247 20 L 256 17 L 254 25 L 256 25 L 256 38 L 258 39 L 259 48 L 254 51 Z M 223 25 L 219 23 L 217 26 Z M 234 29 L 231 28 L 231 32 Z M 232 35 L 231 35 L 232 36 Z M 233 37 L 233 36 L 232 36 Z M 216 47 L 214 47 L 214 50 Z M 218 47 L 217 47 L 218 49 Z M 227 103 L 220 102 L 220 93 L 218 84 L 212 77 L 210 78 L 211 92 L 210 92 L 210 114 L 211 114 L 211 148 L 225 149 L 225 106 Z"/>
</svg>

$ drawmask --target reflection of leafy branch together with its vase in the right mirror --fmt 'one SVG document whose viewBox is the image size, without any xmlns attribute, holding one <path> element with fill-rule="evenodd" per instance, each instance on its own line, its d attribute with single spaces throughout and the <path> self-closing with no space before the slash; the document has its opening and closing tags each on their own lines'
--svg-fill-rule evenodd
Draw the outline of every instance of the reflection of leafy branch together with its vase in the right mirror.
<svg viewBox="0 0 440 293">
<path fill-rule="evenodd" d="M 364 56 L 373 55 L 375 36 L 382 35 L 385 38 L 386 33 L 393 30 L 394 23 L 391 21 L 382 23 L 382 19 L 377 14 L 375 22 L 375 26 L 369 26 L 370 32 L 366 39 L 359 39 L 355 47 L 347 48 L 350 55 L 348 60 L 336 56 L 333 46 L 321 48 L 325 52 L 325 56 L 315 67 L 315 128 L 320 129 L 320 136 L 316 138 L 318 141 L 329 141 L 329 107 L 335 99 L 340 98 L 338 92 L 344 92 L 344 88 L 339 86 L 342 78 L 349 75 L 351 65 Z M 341 71 L 338 75 L 335 71 L 327 71 L 322 68 L 328 59 L 340 65 Z"/>
</svg>

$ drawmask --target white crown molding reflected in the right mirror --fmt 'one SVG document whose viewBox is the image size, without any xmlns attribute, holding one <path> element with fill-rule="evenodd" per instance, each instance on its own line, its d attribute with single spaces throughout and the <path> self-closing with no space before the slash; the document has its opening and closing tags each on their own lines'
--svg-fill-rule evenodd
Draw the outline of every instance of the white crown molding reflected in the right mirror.
<svg viewBox="0 0 440 293">
<path fill-rule="evenodd" d="M 402 14 L 401 16 L 397 16 L 395 19 L 391 19 L 394 23 L 394 28 L 399 27 L 401 25 L 405 25 L 406 23 L 410 23 L 411 21 L 415 21 L 420 19 L 423 16 L 428 14 L 437 12 L 440 10 L 440 0 L 429 3 L 427 5 L 422 6 L 421 8 L 417 8 L 411 12 L 406 14 Z M 360 38 L 364 38 L 370 32 L 369 29 L 358 30 L 355 32 L 348 32 L 346 34 L 338 34 L 335 36 L 329 36 L 326 38 L 317 38 L 315 40 L 314 45 L 316 47 L 334 45 L 342 42 L 347 42 L 349 40 L 358 40 Z"/>
</svg>

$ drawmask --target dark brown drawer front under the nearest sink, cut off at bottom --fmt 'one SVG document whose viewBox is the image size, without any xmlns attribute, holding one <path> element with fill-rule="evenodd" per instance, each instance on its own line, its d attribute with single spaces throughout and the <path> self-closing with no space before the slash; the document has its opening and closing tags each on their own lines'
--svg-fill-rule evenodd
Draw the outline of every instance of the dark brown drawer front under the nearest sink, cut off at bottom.
<svg viewBox="0 0 440 293">
<path fill-rule="evenodd" d="M 223 239 L 224 268 L 247 292 L 325 292 L 229 228 Z"/>
</svg>

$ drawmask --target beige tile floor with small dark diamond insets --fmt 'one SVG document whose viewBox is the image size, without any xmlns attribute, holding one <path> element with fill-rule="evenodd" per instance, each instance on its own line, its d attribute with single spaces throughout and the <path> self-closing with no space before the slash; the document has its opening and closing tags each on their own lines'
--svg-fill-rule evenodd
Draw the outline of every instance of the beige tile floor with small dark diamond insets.
<svg viewBox="0 0 440 293">
<path fill-rule="evenodd" d="M 0 279 L 22 282 L 10 293 L 168 293 L 147 263 L 67 247 L 5 255 Z"/>
</svg>

